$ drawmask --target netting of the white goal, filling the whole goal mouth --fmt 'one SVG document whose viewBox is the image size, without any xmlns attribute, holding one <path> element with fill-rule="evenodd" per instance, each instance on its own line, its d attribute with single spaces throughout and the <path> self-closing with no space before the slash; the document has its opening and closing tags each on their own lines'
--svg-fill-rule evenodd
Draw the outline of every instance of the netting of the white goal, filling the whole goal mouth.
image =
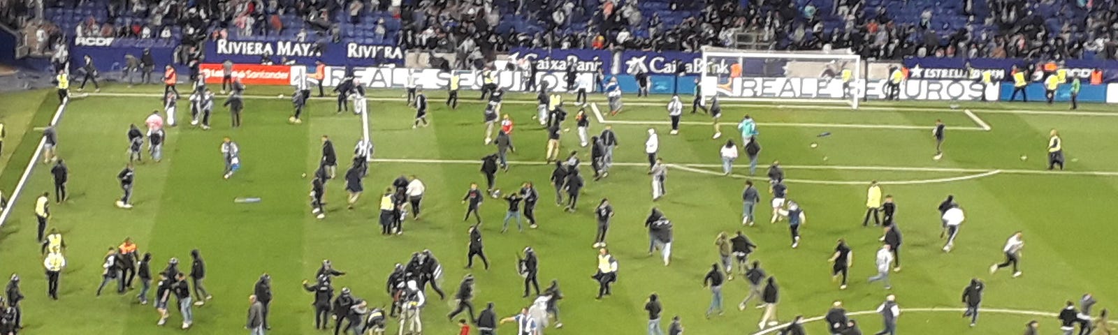
<svg viewBox="0 0 1118 335">
<path fill-rule="evenodd" d="M 703 48 L 699 89 L 722 100 L 845 103 L 858 108 L 862 58 L 847 50 L 766 52 Z"/>
</svg>

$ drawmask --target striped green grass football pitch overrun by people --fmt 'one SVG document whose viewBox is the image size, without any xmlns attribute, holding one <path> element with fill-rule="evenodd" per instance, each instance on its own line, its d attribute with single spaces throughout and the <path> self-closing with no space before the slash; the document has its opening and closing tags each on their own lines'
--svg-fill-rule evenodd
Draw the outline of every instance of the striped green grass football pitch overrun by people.
<svg viewBox="0 0 1118 335">
<path fill-rule="evenodd" d="M 212 88 L 212 85 L 211 85 Z M 188 89 L 180 85 L 180 89 Z M 287 87 L 249 87 L 245 100 L 244 125 L 229 127 L 227 109 L 215 107 L 212 130 L 189 125 L 187 102 L 179 103 L 179 126 L 168 128 L 162 162 L 145 155 L 136 165 L 131 210 L 113 202 L 121 190 L 116 173 L 127 162 L 125 132 L 129 124 L 142 123 L 153 109 L 162 111 L 161 86 L 126 88 L 111 86 L 100 94 L 75 98 L 58 121 L 58 154 L 70 170 L 69 198 L 51 204 L 50 227 L 65 236 L 67 268 L 61 275 L 60 299 L 46 296 L 42 257 L 35 240 L 34 200 L 54 191 L 49 165 L 41 161 L 21 179 L 28 157 L 38 144 L 37 133 L 51 119 L 58 106 L 54 92 L 0 106 L 4 117 L 20 117 L 27 124 L 18 131 L 22 141 L 9 143 L 4 153 L 0 189 L 11 197 L 22 185 L 7 222 L 0 229 L 0 271 L 17 272 L 21 288 L 25 332 L 29 334 L 174 334 L 181 320 L 171 312 L 169 326 L 159 327 L 151 305 L 135 299 L 139 289 L 116 295 L 106 289 L 94 293 L 101 283 L 102 259 L 108 247 L 131 237 L 141 252 L 153 255 L 153 271 L 177 257 L 189 264 L 191 249 L 201 250 L 207 266 L 207 287 L 214 299 L 195 308 L 195 325 L 188 331 L 200 334 L 238 334 L 248 308 L 247 296 L 264 272 L 273 278 L 274 302 L 268 334 L 314 334 L 312 295 L 301 281 L 313 280 L 323 259 L 333 261 L 347 275 L 334 279 L 334 287 L 352 289 L 356 297 L 370 305 L 388 306 L 385 289 L 396 262 L 406 264 L 411 252 L 430 249 L 444 267 L 440 286 L 446 300 L 427 291 L 423 313 L 424 334 L 456 334 L 456 325 L 446 314 L 463 275 L 476 277 L 475 307 L 494 302 L 500 316 L 510 316 L 531 303 L 521 298 L 522 278 L 517 275 L 517 255 L 532 247 L 540 258 L 539 280 L 547 286 L 558 279 L 566 296 L 560 302 L 563 328 L 555 334 L 645 334 L 647 314 L 643 310 L 651 293 L 661 296 L 664 306 L 662 327 L 679 315 L 686 334 L 771 334 L 758 333 L 760 309 L 750 303 L 746 310 L 737 305 L 748 285 L 736 276 L 723 288 L 726 313 L 704 318 L 710 291 L 702 279 L 718 261 L 716 236 L 741 230 L 759 249 L 751 259 L 760 260 L 780 286 L 778 316 L 787 322 L 795 315 L 816 317 L 831 303 L 842 300 L 866 334 L 880 329 L 881 318 L 872 310 L 888 294 L 896 294 L 902 315 L 902 334 L 1017 334 L 1030 319 L 1040 319 L 1044 334 L 1059 327 L 1054 313 L 1065 300 L 1078 300 L 1091 293 L 1098 309 L 1114 307 L 1118 299 L 1118 255 L 1112 238 L 1118 227 L 1109 219 L 1118 214 L 1118 113 L 1110 106 L 1084 104 L 1069 112 L 1065 104 L 1043 103 L 868 103 L 858 111 L 845 105 L 796 103 L 723 102 L 723 136 L 712 140 L 710 118 L 690 112 L 684 97 L 684 124 L 679 135 L 669 135 L 666 96 L 625 97 L 625 112 L 617 116 L 590 113 L 590 134 L 606 125 L 617 133 L 619 146 L 608 178 L 591 181 L 589 150 L 578 146 L 572 117 L 563 134 L 562 154 L 578 150 L 584 162 L 587 186 L 575 213 L 553 205 L 548 185 L 551 166 L 546 165 L 546 131 L 531 116 L 536 114 L 533 95 L 509 94 L 502 113 L 517 123 L 512 134 L 515 153 L 511 169 L 499 173 L 498 185 L 519 189 L 531 181 L 541 201 L 537 210 L 539 229 L 523 232 L 510 229 L 500 233 L 506 204 L 486 199 L 482 205 L 482 226 L 486 255 L 492 267 L 465 269 L 467 233 L 463 222 L 462 197 L 471 182 L 484 185 L 479 172 L 481 157 L 495 152 L 484 145 L 483 104 L 476 92 L 464 92 L 458 108 L 443 105 L 444 92 L 428 92 L 432 112 L 429 127 L 413 130 L 414 111 L 406 106 L 400 90 L 372 90 L 369 111 L 375 161 L 364 179 L 364 195 L 357 208 L 347 210 L 344 182 L 353 144 L 362 135 L 361 118 L 352 113 L 334 113 L 334 98 L 309 103 L 304 123 L 290 124 L 292 106 Z M 186 93 L 186 92 L 183 92 Z M 0 98 L 11 95 L 0 95 Z M 574 99 L 565 95 L 565 100 Z M 604 96 L 591 100 L 605 108 Z M 12 99 L 13 102 L 16 99 Z M 224 102 L 224 97 L 216 100 Z M 37 108 L 35 106 L 38 106 Z M 19 108 L 19 111 L 17 111 Z M 26 108 L 31 109 L 30 114 Z M 567 104 L 570 113 L 577 107 Z M 969 112 L 968 112 L 969 111 Z M 18 112 L 18 113 L 17 113 Z M 604 111 L 603 111 L 604 112 Z M 22 114 L 19 114 L 22 113 Z M 19 115 L 17 115 L 19 114 Z M 760 222 L 741 226 L 741 190 L 750 179 L 748 160 L 738 160 L 731 175 L 722 175 L 719 147 L 726 140 L 739 141 L 733 128 L 745 114 L 759 123 L 761 166 L 752 178 L 762 190 L 761 203 L 771 197 L 765 169 L 773 161 L 784 165 L 789 199 L 800 203 L 807 221 L 802 228 L 799 248 L 789 247 L 786 222 L 767 222 L 768 209 L 759 205 Z M 29 121 L 28 121 L 29 119 Z M 945 155 L 932 160 L 935 142 L 931 128 L 936 119 L 947 125 Z M 660 135 L 660 155 L 670 165 L 667 195 L 651 199 L 650 176 L 645 173 L 646 130 Z M 1045 171 L 1045 146 L 1050 130 L 1060 131 L 1064 141 L 1068 170 Z M 23 132 L 27 132 L 25 135 Z M 819 136 L 830 133 L 827 136 Z M 339 179 L 326 186 L 326 218 L 318 220 L 307 205 L 311 174 L 320 160 L 321 136 L 329 135 L 339 152 Z M 221 138 L 231 137 L 240 145 L 241 169 L 222 180 Z M 811 144 L 817 146 L 813 147 Z M 9 149 L 10 146 L 15 146 Z M 7 156 L 4 159 L 8 159 Z M 427 186 L 424 218 L 404 223 L 401 236 L 380 234 L 378 216 L 381 190 L 401 175 L 416 175 Z M 882 183 L 884 194 L 892 194 L 898 205 L 897 222 L 904 234 L 901 248 L 903 270 L 892 274 L 892 289 L 866 284 L 875 274 L 873 255 L 880 246 L 879 228 L 862 227 L 866 186 L 871 180 Z M 945 253 L 940 248 L 940 201 L 954 194 L 966 210 L 956 248 Z M 51 195 L 53 198 L 53 195 Z M 237 198 L 260 198 L 258 203 L 237 203 Z M 597 251 L 593 208 L 608 198 L 617 211 L 609 231 L 608 246 L 619 262 L 618 281 L 613 296 L 595 300 Z M 672 262 L 664 266 L 656 255 L 647 255 L 647 232 L 643 226 L 650 209 L 659 207 L 674 223 Z M 472 222 L 472 221 L 470 221 Z M 1007 270 L 991 275 L 991 264 L 1002 261 L 1002 247 L 1015 231 L 1023 231 L 1025 248 L 1020 278 Z M 835 240 L 844 238 L 854 250 L 851 285 L 839 289 L 830 276 L 827 259 Z M 960 295 L 970 278 L 987 284 L 984 307 L 977 327 L 960 319 Z M 138 285 L 139 286 L 139 285 Z M 139 287 L 138 287 L 139 288 Z M 173 309 L 173 308 L 172 308 Z M 461 317 L 461 316 L 459 316 Z M 396 334 L 398 323 L 389 322 Z M 331 325 L 332 326 L 332 325 Z M 822 322 L 807 323 L 808 334 L 825 334 Z M 513 324 L 499 334 L 513 334 Z"/>
</svg>

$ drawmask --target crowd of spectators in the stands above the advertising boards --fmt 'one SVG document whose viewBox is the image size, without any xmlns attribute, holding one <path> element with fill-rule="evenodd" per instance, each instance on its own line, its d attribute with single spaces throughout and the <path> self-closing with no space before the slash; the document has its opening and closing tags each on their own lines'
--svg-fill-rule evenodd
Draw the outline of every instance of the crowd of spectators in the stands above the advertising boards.
<svg viewBox="0 0 1118 335">
<path fill-rule="evenodd" d="M 1116 0 L 0 0 L 32 54 L 69 37 L 173 40 L 372 38 L 456 54 L 511 48 L 695 51 L 750 34 L 770 49 L 866 58 L 1115 59 Z M 364 39 L 363 41 L 368 41 Z"/>
</svg>

